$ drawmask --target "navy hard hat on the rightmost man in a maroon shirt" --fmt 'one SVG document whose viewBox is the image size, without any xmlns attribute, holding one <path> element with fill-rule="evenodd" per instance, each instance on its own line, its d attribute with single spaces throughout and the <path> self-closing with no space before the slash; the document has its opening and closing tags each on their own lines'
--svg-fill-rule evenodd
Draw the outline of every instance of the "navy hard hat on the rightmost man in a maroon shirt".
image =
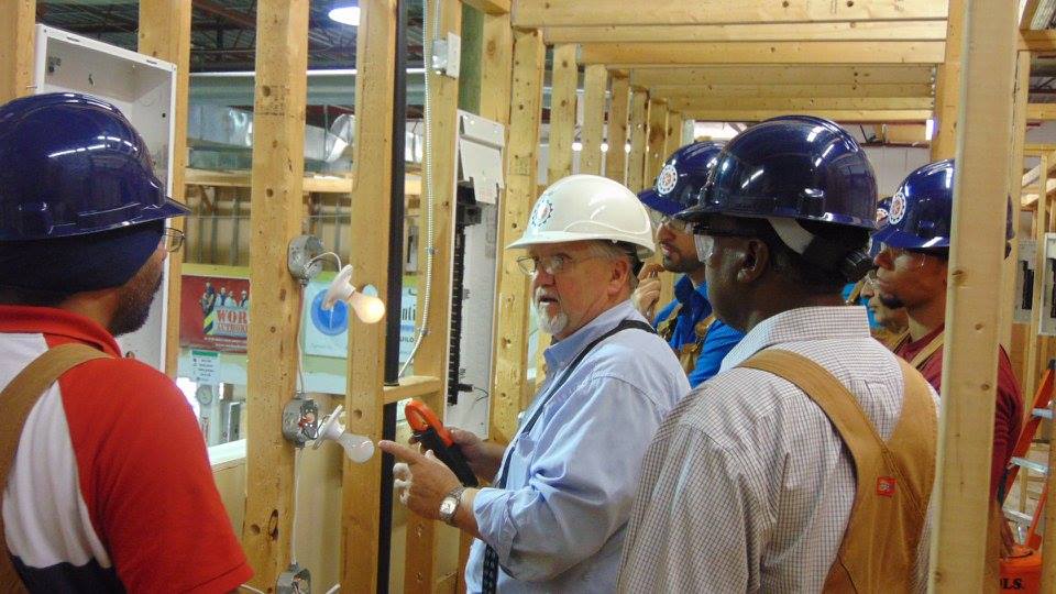
<svg viewBox="0 0 1056 594">
<path fill-rule="evenodd" d="M 888 224 L 872 234 L 873 243 L 906 250 L 949 248 L 954 211 L 953 160 L 920 167 L 902 180 L 891 198 Z M 1005 215 L 1004 239 L 1011 240 L 1012 202 Z"/>
</svg>

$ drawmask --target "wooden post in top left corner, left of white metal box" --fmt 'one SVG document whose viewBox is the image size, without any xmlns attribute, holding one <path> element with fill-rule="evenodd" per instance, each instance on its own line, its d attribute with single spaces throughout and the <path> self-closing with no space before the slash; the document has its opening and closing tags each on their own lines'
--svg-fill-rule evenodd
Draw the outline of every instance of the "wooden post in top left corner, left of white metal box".
<svg viewBox="0 0 1056 594">
<path fill-rule="evenodd" d="M 0 105 L 33 92 L 33 31 L 36 0 L 2 0 Z"/>
</svg>

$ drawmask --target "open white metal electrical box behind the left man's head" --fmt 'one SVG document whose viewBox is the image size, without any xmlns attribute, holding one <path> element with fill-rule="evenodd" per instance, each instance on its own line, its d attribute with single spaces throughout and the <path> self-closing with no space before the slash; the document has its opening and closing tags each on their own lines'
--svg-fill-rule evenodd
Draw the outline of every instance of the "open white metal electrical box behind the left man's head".
<svg viewBox="0 0 1056 594">
<path fill-rule="evenodd" d="M 36 25 L 35 53 L 34 92 L 84 92 L 116 105 L 143 136 L 172 196 L 176 65 L 46 25 Z M 167 310 L 166 267 L 146 323 L 118 339 L 127 353 L 163 371 Z"/>
</svg>

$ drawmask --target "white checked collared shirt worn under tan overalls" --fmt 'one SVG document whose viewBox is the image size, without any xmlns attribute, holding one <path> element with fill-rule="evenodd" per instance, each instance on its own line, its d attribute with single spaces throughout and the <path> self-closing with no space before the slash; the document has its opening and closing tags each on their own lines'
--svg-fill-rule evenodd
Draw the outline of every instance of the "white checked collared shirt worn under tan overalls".
<svg viewBox="0 0 1056 594">
<path fill-rule="evenodd" d="M 833 373 L 890 438 L 902 372 L 870 337 L 864 308 L 803 308 L 765 320 L 653 439 L 625 541 L 622 592 L 822 590 L 855 499 L 854 462 L 806 394 L 736 367 L 771 346 Z M 917 580 L 926 554 L 919 564 Z"/>
</svg>

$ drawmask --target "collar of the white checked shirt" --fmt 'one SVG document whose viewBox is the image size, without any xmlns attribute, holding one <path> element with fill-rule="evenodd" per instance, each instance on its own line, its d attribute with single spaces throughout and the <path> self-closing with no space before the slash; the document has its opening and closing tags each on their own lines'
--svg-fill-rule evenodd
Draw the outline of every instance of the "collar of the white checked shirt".
<svg viewBox="0 0 1056 594">
<path fill-rule="evenodd" d="M 723 360 L 719 372 L 744 363 L 782 342 L 869 338 L 869 318 L 861 306 L 801 307 L 758 323 Z"/>
</svg>

